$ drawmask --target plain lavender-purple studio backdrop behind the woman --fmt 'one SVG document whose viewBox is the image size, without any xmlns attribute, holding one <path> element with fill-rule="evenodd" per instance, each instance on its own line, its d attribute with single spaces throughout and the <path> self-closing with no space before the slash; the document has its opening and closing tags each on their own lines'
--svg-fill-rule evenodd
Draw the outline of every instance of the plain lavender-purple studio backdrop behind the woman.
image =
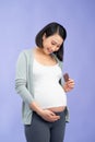
<svg viewBox="0 0 95 142">
<path fill-rule="evenodd" d="M 0 0 L 0 142 L 25 142 L 21 98 L 15 93 L 15 62 L 35 46 L 47 23 L 64 25 L 64 68 L 75 81 L 68 93 L 70 123 L 64 142 L 95 142 L 95 1 Z"/>
</svg>

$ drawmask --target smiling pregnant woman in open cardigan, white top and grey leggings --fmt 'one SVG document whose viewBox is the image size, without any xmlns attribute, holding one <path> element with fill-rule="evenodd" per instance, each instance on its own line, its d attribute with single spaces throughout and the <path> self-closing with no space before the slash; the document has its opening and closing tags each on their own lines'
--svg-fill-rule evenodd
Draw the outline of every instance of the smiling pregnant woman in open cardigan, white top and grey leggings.
<svg viewBox="0 0 95 142">
<path fill-rule="evenodd" d="M 63 82 L 66 28 L 49 23 L 35 37 L 36 47 L 23 50 L 16 62 L 15 90 L 22 97 L 22 120 L 27 142 L 63 142 L 68 121 L 67 92 L 74 81 Z"/>
</svg>

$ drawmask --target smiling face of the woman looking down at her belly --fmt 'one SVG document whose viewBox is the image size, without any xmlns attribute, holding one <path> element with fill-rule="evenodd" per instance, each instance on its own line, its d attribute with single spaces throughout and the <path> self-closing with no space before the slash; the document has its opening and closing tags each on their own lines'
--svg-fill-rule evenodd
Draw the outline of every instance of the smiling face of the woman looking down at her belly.
<svg viewBox="0 0 95 142">
<path fill-rule="evenodd" d="M 62 43 L 63 43 L 63 39 L 58 34 L 55 34 L 49 37 L 46 37 L 46 35 L 44 35 L 43 36 L 43 50 L 46 55 L 50 55 L 54 51 L 59 50 Z"/>
</svg>

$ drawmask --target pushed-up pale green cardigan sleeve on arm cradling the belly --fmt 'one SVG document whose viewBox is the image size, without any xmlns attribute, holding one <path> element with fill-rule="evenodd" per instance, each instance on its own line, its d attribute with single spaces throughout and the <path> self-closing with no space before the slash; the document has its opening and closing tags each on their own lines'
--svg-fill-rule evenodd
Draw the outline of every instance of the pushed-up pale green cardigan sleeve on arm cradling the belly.
<svg viewBox="0 0 95 142">
<path fill-rule="evenodd" d="M 31 104 L 34 100 L 31 92 L 27 90 L 27 59 L 24 51 L 20 54 L 16 62 L 15 91 L 25 103 Z"/>
</svg>

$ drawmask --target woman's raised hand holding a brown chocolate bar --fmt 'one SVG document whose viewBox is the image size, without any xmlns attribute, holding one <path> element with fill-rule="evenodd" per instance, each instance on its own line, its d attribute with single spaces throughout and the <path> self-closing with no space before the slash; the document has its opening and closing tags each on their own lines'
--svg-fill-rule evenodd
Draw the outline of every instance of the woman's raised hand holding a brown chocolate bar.
<svg viewBox="0 0 95 142">
<path fill-rule="evenodd" d="M 63 84 L 63 90 L 64 92 L 70 92 L 74 87 L 74 81 L 72 79 L 69 79 L 67 82 Z"/>
</svg>

